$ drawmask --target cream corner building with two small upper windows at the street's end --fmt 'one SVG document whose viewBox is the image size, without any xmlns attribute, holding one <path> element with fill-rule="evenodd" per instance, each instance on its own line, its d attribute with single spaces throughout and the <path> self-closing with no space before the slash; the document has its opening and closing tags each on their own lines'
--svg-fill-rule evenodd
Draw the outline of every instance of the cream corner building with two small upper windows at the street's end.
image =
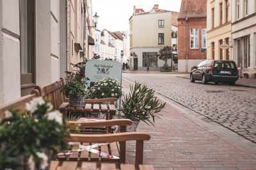
<svg viewBox="0 0 256 170">
<path fill-rule="evenodd" d="M 160 70 L 164 65 L 157 54 L 164 46 L 172 45 L 173 11 L 161 10 L 155 4 L 152 10 L 145 12 L 134 6 L 129 19 L 130 52 L 132 70 Z M 170 66 L 171 60 L 168 60 Z"/>
</svg>

